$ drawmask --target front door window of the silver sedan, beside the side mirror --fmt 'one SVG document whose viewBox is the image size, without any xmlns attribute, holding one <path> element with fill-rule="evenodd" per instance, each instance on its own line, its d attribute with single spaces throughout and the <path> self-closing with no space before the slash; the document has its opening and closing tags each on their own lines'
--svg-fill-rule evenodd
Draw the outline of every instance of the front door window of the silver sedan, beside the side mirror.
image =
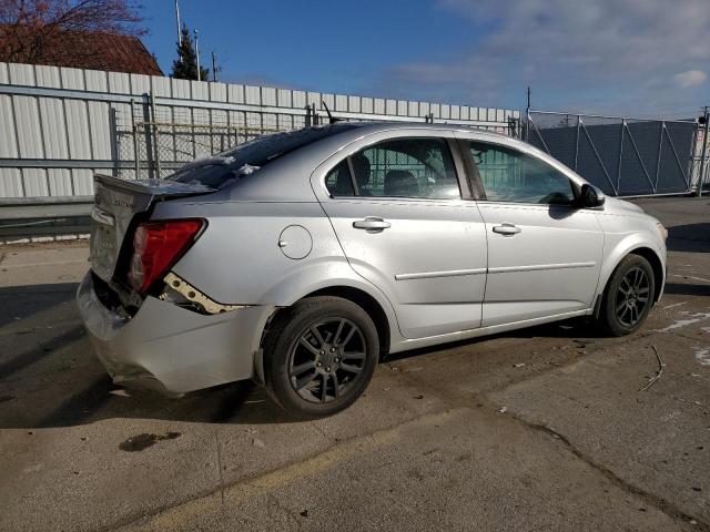
<svg viewBox="0 0 710 532">
<path fill-rule="evenodd" d="M 490 202 L 570 205 L 569 178 L 549 164 L 506 146 L 470 142 L 470 155 Z"/>
</svg>

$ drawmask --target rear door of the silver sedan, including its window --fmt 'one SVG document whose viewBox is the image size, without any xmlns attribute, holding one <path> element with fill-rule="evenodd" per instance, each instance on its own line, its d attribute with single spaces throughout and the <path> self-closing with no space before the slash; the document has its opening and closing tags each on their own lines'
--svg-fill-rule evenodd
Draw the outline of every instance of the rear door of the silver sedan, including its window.
<svg viewBox="0 0 710 532">
<path fill-rule="evenodd" d="M 486 235 L 452 147 L 446 132 L 379 133 L 333 157 L 316 184 L 349 264 L 387 296 L 406 338 L 480 326 Z"/>
</svg>

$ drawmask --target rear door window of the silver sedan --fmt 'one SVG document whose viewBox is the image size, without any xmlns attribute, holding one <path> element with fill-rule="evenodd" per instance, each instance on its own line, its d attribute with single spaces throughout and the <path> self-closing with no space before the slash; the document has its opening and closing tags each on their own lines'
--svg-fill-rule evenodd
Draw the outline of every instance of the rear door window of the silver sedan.
<svg viewBox="0 0 710 532">
<path fill-rule="evenodd" d="M 443 139 L 395 139 L 351 157 L 361 196 L 459 198 L 458 180 Z"/>
</svg>

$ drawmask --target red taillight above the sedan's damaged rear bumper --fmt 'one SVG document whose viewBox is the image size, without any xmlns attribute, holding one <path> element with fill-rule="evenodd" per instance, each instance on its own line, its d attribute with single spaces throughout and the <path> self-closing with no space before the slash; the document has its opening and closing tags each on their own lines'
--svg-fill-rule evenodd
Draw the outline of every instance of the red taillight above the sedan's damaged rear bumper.
<svg viewBox="0 0 710 532">
<path fill-rule="evenodd" d="M 203 226 L 203 219 L 164 219 L 139 225 L 133 235 L 131 286 L 148 291 L 187 250 Z"/>
</svg>

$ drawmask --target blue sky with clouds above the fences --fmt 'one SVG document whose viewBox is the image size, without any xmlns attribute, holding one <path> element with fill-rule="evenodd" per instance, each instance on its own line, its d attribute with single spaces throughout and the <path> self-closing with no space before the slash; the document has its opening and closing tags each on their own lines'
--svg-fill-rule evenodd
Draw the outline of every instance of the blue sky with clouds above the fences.
<svg viewBox="0 0 710 532">
<path fill-rule="evenodd" d="M 692 117 L 710 105 L 710 0 L 180 0 L 221 81 L 537 110 Z M 169 74 L 174 0 L 144 0 Z"/>
</svg>

